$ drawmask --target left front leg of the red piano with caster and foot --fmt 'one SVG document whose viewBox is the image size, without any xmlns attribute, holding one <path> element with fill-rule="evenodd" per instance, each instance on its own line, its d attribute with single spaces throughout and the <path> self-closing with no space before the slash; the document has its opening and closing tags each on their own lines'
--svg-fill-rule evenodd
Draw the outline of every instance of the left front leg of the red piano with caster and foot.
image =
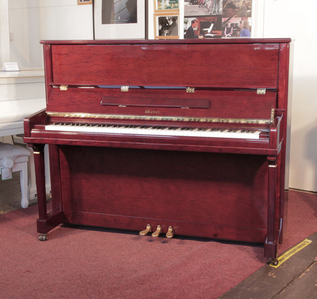
<svg viewBox="0 0 317 299">
<path fill-rule="evenodd" d="M 64 221 L 65 215 L 60 210 L 52 210 L 47 213 L 46 207 L 46 184 L 45 184 L 45 163 L 44 145 L 32 145 L 34 150 L 34 166 L 36 178 L 36 190 L 38 201 L 37 232 L 40 233 L 39 240 L 47 240 L 47 232 Z"/>
</svg>

